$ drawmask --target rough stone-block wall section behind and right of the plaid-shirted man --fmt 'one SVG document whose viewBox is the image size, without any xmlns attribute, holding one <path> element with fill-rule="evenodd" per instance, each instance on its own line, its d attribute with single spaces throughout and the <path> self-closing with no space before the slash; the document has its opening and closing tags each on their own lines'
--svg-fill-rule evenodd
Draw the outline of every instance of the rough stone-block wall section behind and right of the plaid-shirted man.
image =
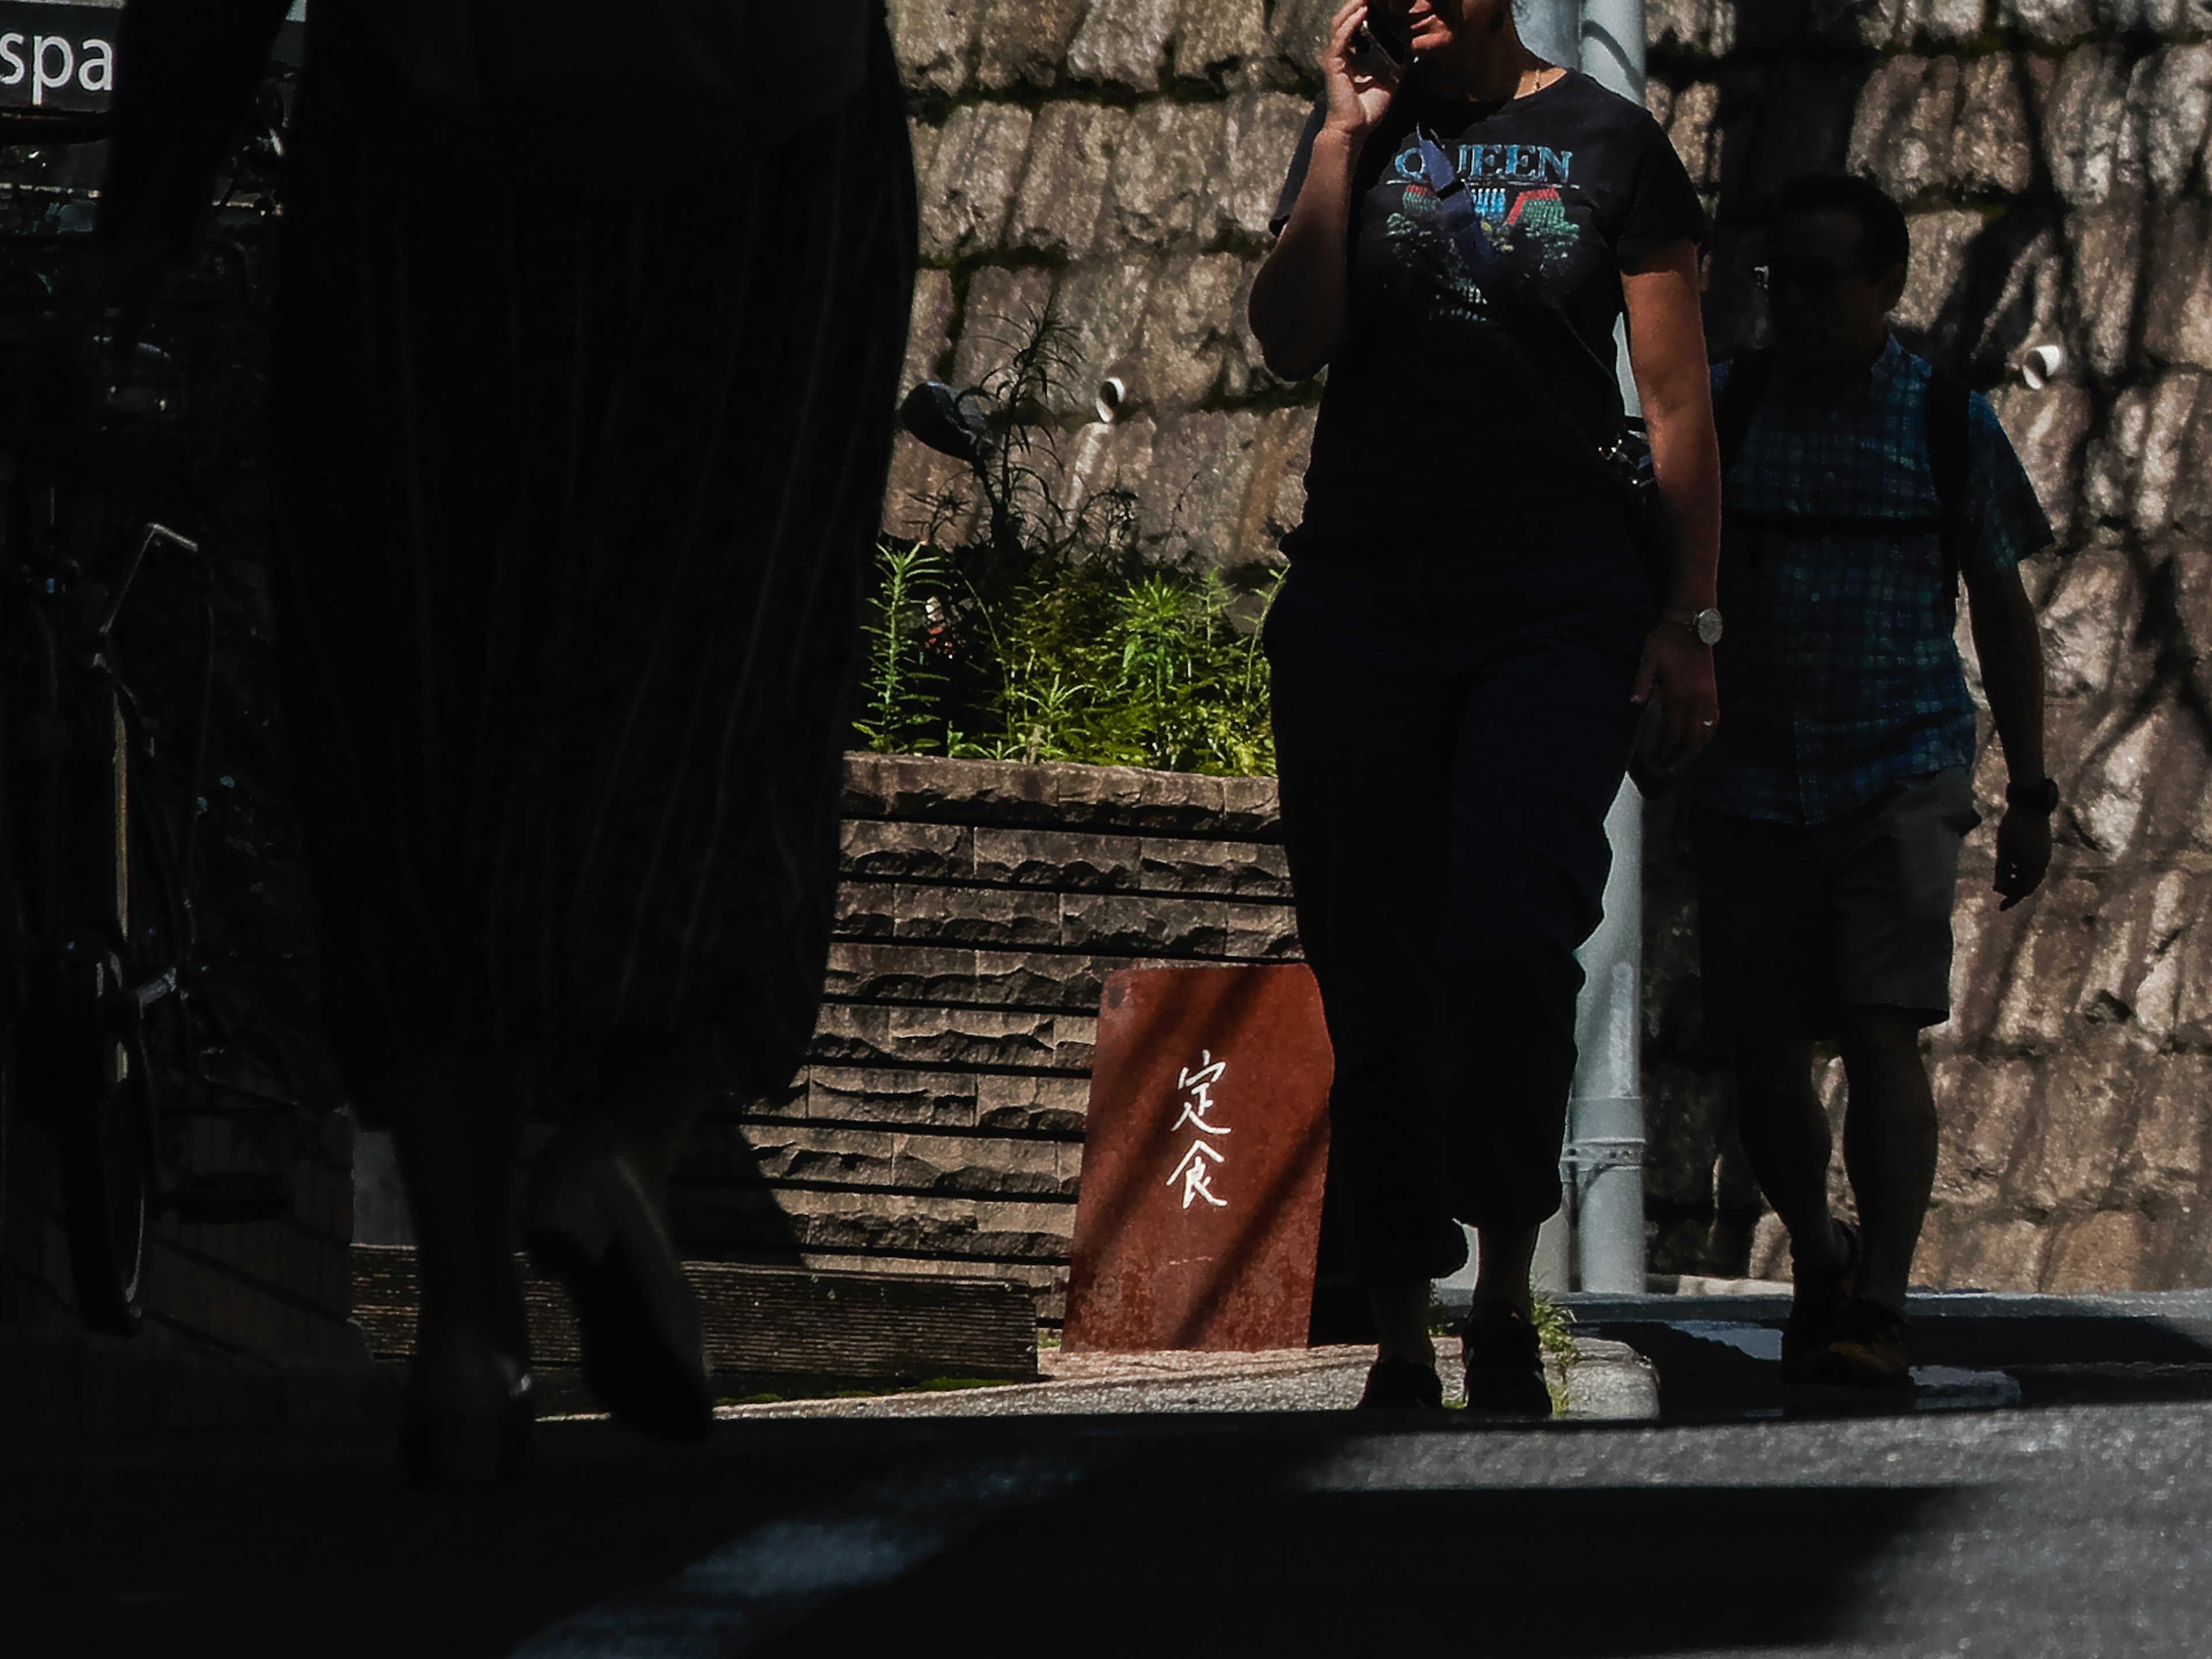
<svg viewBox="0 0 2212 1659">
<path fill-rule="evenodd" d="M 2028 571 L 2066 792 L 2057 865 L 1997 911 L 2004 770 L 1984 752 L 1955 1015 L 1933 1033 L 1942 1172 L 1918 1276 L 2212 1283 L 2212 7 L 1657 0 L 1650 104 L 1717 210 L 1714 354 L 1759 327 L 1763 197 L 1805 168 L 1871 173 L 1913 223 L 1900 325 L 1991 389 L 2059 531 Z M 2017 363 L 2046 343 L 2066 367 L 2033 392 Z M 1650 827 L 1652 1265 L 1785 1272 L 1697 1029 L 1679 803 Z M 1832 1066 L 1840 1106 L 1838 1084 Z"/>
</svg>

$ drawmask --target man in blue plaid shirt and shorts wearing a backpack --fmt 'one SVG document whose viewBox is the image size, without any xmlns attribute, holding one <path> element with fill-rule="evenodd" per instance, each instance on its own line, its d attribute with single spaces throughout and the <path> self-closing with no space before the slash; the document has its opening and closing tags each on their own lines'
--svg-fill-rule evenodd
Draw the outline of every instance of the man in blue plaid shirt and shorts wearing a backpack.
<svg viewBox="0 0 2212 1659">
<path fill-rule="evenodd" d="M 1958 856 L 1980 823 L 1960 580 L 2011 772 L 2006 907 L 2042 883 L 2057 807 L 2020 586 L 2051 524 L 1991 407 L 1889 332 L 1909 252 L 1874 184 L 1787 186 L 1770 230 L 1774 349 L 1714 369 L 1728 637 L 1723 719 L 1697 770 L 1705 1011 L 1734 1048 L 1743 1150 L 1790 1230 L 1785 1383 L 1911 1380 L 1905 1285 L 1936 1179 L 1920 1029 L 1951 1011 Z M 1827 1208 L 1823 1037 L 1849 1082 L 1856 1228 Z"/>
</svg>

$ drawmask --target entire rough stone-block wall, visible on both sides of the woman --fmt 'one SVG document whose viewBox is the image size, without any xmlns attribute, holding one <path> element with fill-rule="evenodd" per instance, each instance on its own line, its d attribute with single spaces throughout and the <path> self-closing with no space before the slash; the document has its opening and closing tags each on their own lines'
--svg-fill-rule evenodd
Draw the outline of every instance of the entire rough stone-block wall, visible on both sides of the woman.
<svg viewBox="0 0 2212 1659">
<path fill-rule="evenodd" d="M 925 272 L 909 376 L 971 383 L 1051 296 L 1073 327 L 1048 471 L 1137 491 L 1157 553 L 1270 557 L 1301 511 L 1314 385 L 1256 361 L 1243 296 L 1314 93 L 1325 0 L 894 0 Z M 1960 887 L 1958 1018 L 1922 1279 L 2212 1283 L 2199 1243 L 2212 933 L 2199 827 L 2212 686 L 2205 0 L 1652 0 L 1650 104 L 1714 208 L 1708 332 L 1759 330 L 1765 197 L 1874 173 L 1911 208 L 1911 338 L 1991 392 L 2059 529 L 2031 591 L 2051 657 L 2059 863 Z M 2066 352 L 2031 392 L 2024 347 Z M 1121 378 L 1119 418 L 1095 416 Z M 958 469 L 902 445 L 887 520 Z M 1071 493 L 1075 493 L 1071 491 Z M 2002 768 L 1984 761 L 1993 807 Z M 1995 818 L 1995 812 L 1989 814 Z M 1650 814 L 1652 1265 L 1776 1272 L 1697 1029 L 1679 803 Z M 1829 1095 L 1838 1099 L 1829 1075 Z"/>
</svg>

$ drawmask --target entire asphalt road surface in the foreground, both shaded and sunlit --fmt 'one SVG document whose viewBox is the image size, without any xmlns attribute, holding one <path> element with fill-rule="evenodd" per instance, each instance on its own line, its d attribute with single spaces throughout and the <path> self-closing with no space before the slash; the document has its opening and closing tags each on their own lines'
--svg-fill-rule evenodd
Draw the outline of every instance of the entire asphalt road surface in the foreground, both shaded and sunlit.
<svg viewBox="0 0 2212 1659">
<path fill-rule="evenodd" d="M 542 1425 L 0 1464 L 0 1652 L 2205 1655 L 2212 1407 L 1378 1429 L 1343 1411 Z"/>
</svg>

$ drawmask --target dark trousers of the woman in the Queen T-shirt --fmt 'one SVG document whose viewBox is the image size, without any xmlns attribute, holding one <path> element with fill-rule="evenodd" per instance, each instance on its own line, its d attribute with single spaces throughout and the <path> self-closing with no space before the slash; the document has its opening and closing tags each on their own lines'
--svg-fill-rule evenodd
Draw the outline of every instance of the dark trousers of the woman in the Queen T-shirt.
<svg viewBox="0 0 2212 1659">
<path fill-rule="evenodd" d="M 1283 836 L 1336 1082 L 1329 1188 L 1365 1285 L 1442 1279 L 1453 1221 L 1559 1208 L 1575 949 L 1655 624 L 1624 520 L 1301 560 L 1267 617 Z"/>
</svg>

